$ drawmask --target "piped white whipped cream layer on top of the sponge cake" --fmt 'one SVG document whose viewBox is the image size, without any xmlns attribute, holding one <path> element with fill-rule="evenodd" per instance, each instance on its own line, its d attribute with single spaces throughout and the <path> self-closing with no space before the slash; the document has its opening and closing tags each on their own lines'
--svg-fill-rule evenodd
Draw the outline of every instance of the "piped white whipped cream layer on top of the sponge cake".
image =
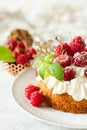
<svg viewBox="0 0 87 130">
<path fill-rule="evenodd" d="M 47 84 L 49 89 L 53 88 L 53 94 L 68 93 L 76 101 L 87 99 L 87 78 L 84 76 L 84 70 L 87 67 L 76 67 L 72 66 L 76 71 L 76 77 L 71 81 L 58 81 L 52 76 L 48 76 L 43 80 Z M 37 80 L 42 80 L 40 76 Z"/>
</svg>

